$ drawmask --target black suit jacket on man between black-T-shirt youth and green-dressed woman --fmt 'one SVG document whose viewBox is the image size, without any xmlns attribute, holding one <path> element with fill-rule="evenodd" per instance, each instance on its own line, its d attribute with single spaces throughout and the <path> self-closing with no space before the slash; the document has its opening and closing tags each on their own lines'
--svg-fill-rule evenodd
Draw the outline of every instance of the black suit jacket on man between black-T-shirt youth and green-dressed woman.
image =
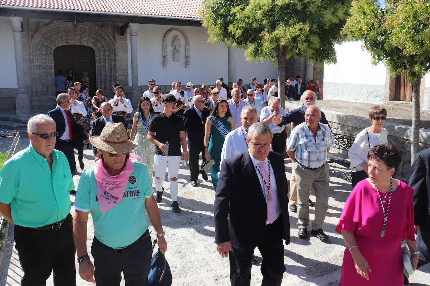
<svg viewBox="0 0 430 286">
<path fill-rule="evenodd" d="M 204 138 L 205 138 L 205 123 L 206 118 L 208 118 L 210 111 L 208 108 L 202 109 L 202 119 L 200 119 L 199 114 L 194 109 L 194 105 L 185 110 L 184 115 L 182 115 L 182 121 L 187 131 L 188 147 L 195 150 L 203 150 Z"/>
</svg>

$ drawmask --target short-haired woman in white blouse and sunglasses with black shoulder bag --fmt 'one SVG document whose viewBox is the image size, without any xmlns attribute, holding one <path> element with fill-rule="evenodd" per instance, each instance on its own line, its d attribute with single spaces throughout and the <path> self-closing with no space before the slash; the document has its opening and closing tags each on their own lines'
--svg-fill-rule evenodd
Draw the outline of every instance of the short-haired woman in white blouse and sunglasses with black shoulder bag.
<svg viewBox="0 0 430 286">
<path fill-rule="evenodd" d="M 369 177 L 367 162 L 367 152 L 376 144 L 388 143 L 388 132 L 384 128 L 385 119 L 387 118 L 387 109 L 382 106 L 373 106 L 369 110 L 369 119 L 372 126 L 363 129 L 357 134 L 353 145 L 348 152 L 351 160 L 350 168 L 355 168 L 357 173 L 353 176 L 353 187 L 355 184 Z"/>
</svg>

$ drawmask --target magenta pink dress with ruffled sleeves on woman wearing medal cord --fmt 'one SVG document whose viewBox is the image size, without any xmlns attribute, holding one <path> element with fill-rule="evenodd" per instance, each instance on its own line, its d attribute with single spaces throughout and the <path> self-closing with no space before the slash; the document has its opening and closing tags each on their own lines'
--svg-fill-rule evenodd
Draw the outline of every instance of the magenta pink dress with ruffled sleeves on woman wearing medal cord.
<svg viewBox="0 0 430 286">
<path fill-rule="evenodd" d="M 387 210 L 390 193 L 381 192 Z M 376 189 L 367 181 L 359 182 L 345 203 L 336 231 L 354 232 L 358 249 L 367 260 L 372 272 L 369 281 L 361 277 L 355 267 L 348 248 L 344 252 L 341 283 L 346 286 L 403 285 L 403 261 L 400 241 L 408 238 L 415 241 L 414 189 L 400 181 L 393 192 L 387 219 L 385 236 L 381 238 L 384 214 Z"/>
</svg>

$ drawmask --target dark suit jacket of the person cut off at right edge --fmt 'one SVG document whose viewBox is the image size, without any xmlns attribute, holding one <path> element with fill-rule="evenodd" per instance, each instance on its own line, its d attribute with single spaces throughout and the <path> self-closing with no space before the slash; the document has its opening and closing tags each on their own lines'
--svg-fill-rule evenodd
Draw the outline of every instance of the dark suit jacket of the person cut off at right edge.
<svg viewBox="0 0 430 286">
<path fill-rule="evenodd" d="M 415 155 L 409 186 L 414 188 L 415 224 L 430 226 L 430 148 Z"/>
</svg>

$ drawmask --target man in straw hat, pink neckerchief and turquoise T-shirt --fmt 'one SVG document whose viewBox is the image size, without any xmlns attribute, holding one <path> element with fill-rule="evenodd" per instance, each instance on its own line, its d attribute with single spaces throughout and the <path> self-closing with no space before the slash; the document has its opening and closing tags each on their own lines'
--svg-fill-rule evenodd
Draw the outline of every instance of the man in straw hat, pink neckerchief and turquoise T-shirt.
<svg viewBox="0 0 430 286">
<path fill-rule="evenodd" d="M 121 281 L 123 272 L 126 283 L 147 285 L 152 256 L 150 222 L 161 253 L 167 248 L 148 168 L 129 159 L 140 159 L 129 153 L 138 143 L 128 139 L 123 123 L 108 122 L 99 136 L 91 137 L 91 144 L 97 148 L 99 160 L 81 175 L 74 202 L 80 277 L 111 285 Z M 86 243 L 88 214 L 94 225 L 94 265 Z"/>
</svg>

